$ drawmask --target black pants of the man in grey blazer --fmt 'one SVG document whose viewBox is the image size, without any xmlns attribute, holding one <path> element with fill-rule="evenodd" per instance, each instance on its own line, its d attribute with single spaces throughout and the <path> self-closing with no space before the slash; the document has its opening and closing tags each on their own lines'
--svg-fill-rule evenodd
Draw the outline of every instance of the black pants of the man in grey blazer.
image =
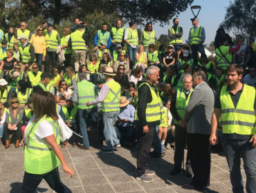
<svg viewBox="0 0 256 193">
<path fill-rule="evenodd" d="M 210 183 L 210 143 L 208 134 L 187 134 L 188 155 L 194 173 L 192 185 L 203 187 Z"/>
</svg>

